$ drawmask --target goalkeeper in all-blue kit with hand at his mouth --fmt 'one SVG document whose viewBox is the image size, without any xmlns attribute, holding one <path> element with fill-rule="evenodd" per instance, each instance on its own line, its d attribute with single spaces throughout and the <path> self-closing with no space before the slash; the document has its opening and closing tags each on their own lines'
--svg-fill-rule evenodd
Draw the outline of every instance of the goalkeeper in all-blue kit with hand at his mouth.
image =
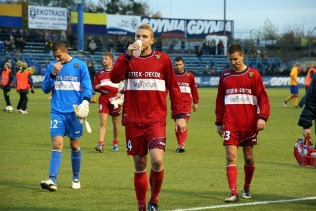
<svg viewBox="0 0 316 211">
<path fill-rule="evenodd" d="M 69 55 L 64 42 L 53 42 L 51 51 L 56 61 L 48 65 L 41 89 L 46 94 L 52 92 L 50 136 L 53 147 L 49 179 L 40 181 L 40 186 L 49 191 L 57 190 L 56 180 L 61 164 L 64 136 L 67 135 L 71 148 L 72 188 L 79 189 L 80 136 L 82 123 L 89 113 L 92 84 L 85 62 Z"/>
</svg>

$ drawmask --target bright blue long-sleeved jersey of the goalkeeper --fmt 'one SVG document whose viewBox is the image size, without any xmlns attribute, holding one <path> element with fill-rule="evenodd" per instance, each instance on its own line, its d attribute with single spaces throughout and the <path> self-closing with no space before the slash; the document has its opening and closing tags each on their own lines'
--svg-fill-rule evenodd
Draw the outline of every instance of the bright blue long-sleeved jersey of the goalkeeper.
<svg viewBox="0 0 316 211">
<path fill-rule="evenodd" d="M 68 114 L 74 112 L 73 104 L 81 104 L 83 99 L 92 97 L 92 84 L 85 62 L 74 58 L 63 64 L 62 69 L 54 76 L 51 74 L 54 64 L 51 62 L 45 71 L 41 85 L 44 93 L 52 91 L 51 111 Z"/>
</svg>

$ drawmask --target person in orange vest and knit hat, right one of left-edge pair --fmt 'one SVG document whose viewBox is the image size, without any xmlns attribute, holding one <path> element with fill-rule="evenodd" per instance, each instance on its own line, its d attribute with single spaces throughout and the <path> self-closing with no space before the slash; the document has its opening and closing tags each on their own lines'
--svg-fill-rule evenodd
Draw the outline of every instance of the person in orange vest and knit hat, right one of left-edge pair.
<svg viewBox="0 0 316 211">
<path fill-rule="evenodd" d="M 27 114 L 27 104 L 29 100 L 29 90 L 34 93 L 33 82 L 30 71 L 28 71 L 28 63 L 18 61 L 16 63 L 18 71 L 16 72 L 16 90 L 20 94 L 20 100 L 15 109 L 16 113 Z"/>
</svg>

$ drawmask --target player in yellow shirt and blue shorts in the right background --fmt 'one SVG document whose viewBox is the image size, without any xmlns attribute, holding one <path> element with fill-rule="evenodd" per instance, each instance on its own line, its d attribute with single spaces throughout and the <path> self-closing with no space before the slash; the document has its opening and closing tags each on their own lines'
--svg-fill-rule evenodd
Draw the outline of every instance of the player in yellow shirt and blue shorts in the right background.
<svg viewBox="0 0 316 211">
<path fill-rule="evenodd" d="M 283 101 L 283 106 L 286 107 L 286 104 L 288 101 L 290 101 L 291 99 L 294 98 L 294 103 L 293 106 L 294 108 L 299 108 L 297 103 L 298 103 L 298 81 L 297 81 L 297 77 L 300 74 L 300 72 L 303 70 L 303 68 L 301 67 L 301 63 L 300 62 L 296 62 L 295 63 L 295 67 L 293 67 L 291 69 L 290 72 L 290 91 L 291 91 L 291 95 L 288 96 L 284 101 Z"/>
</svg>

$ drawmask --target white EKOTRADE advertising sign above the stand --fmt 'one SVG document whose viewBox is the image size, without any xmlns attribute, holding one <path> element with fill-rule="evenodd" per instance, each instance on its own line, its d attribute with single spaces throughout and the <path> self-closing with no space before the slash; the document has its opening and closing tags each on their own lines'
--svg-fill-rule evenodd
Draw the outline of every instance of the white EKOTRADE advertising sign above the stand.
<svg viewBox="0 0 316 211">
<path fill-rule="evenodd" d="M 67 9 L 50 6 L 29 6 L 30 29 L 67 30 Z"/>
</svg>

